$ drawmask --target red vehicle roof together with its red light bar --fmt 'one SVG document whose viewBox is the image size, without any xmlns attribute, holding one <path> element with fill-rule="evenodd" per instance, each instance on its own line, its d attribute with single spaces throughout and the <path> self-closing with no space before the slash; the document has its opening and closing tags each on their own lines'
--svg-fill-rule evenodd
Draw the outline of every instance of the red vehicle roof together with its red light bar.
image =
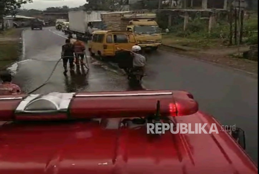
<svg viewBox="0 0 259 174">
<path fill-rule="evenodd" d="M 221 124 L 214 117 L 199 111 L 187 92 L 77 93 L 67 110 L 56 114 L 39 109 L 34 114 L 17 111 L 28 96 L 11 97 L 0 96 L 0 120 L 18 121 L 0 126 L 1 174 L 258 173 L 232 136 L 220 131 Z M 121 126 L 125 117 L 154 114 L 157 100 L 161 114 L 174 122 L 208 123 L 205 129 L 215 123 L 219 133 L 166 131 L 154 136 L 144 126 Z M 90 120 L 77 120 L 83 118 Z M 56 121 L 43 121 L 52 119 Z"/>
</svg>

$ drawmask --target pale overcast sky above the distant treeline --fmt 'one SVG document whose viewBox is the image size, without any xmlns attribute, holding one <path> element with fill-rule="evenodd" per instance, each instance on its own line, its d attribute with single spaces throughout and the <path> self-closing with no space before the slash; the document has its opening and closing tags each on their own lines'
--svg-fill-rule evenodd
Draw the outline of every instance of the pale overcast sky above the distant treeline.
<svg viewBox="0 0 259 174">
<path fill-rule="evenodd" d="M 23 8 L 44 10 L 48 7 L 62 7 L 64 5 L 74 8 L 85 3 L 86 0 L 33 0 L 33 3 L 27 3 L 23 5 Z"/>
</svg>

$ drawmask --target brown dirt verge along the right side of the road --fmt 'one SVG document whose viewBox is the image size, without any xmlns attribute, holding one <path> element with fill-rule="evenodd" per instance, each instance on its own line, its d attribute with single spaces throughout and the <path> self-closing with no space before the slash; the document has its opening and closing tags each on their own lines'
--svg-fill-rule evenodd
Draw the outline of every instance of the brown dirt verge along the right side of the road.
<svg viewBox="0 0 259 174">
<path fill-rule="evenodd" d="M 164 35 L 162 43 L 164 46 L 161 49 L 168 52 L 225 65 L 250 74 L 258 74 L 258 62 L 231 56 L 248 51 L 247 45 L 237 48 L 237 46 L 228 46 L 222 39 L 197 40 L 172 35 Z"/>
</svg>

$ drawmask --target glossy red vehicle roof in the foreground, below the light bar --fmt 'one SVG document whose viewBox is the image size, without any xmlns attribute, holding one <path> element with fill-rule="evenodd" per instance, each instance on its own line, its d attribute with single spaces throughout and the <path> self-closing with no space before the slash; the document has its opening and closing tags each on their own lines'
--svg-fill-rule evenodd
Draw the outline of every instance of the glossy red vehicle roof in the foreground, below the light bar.
<svg viewBox="0 0 259 174">
<path fill-rule="evenodd" d="M 202 113 L 178 122 L 216 122 Z M 120 120 L 6 124 L 0 129 L 1 174 L 255 174 L 257 167 L 225 132 L 147 134 Z M 217 125 L 218 130 L 220 126 Z M 194 128 L 192 128 L 194 130 Z"/>
</svg>

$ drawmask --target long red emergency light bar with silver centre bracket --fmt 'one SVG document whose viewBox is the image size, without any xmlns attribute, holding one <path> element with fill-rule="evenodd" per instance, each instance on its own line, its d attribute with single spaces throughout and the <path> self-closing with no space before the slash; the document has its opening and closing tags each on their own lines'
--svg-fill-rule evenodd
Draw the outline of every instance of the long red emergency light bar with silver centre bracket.
<svg viewBox="0 0 259 174">
<path fill-rule="evenodd" d="M 0 121 L 146 117 L 155 114 L 158 100 L 162 116 L 198 111 L 198 103 L 184 91 L 52 92 L 0 96 Z"/>
</svg>

